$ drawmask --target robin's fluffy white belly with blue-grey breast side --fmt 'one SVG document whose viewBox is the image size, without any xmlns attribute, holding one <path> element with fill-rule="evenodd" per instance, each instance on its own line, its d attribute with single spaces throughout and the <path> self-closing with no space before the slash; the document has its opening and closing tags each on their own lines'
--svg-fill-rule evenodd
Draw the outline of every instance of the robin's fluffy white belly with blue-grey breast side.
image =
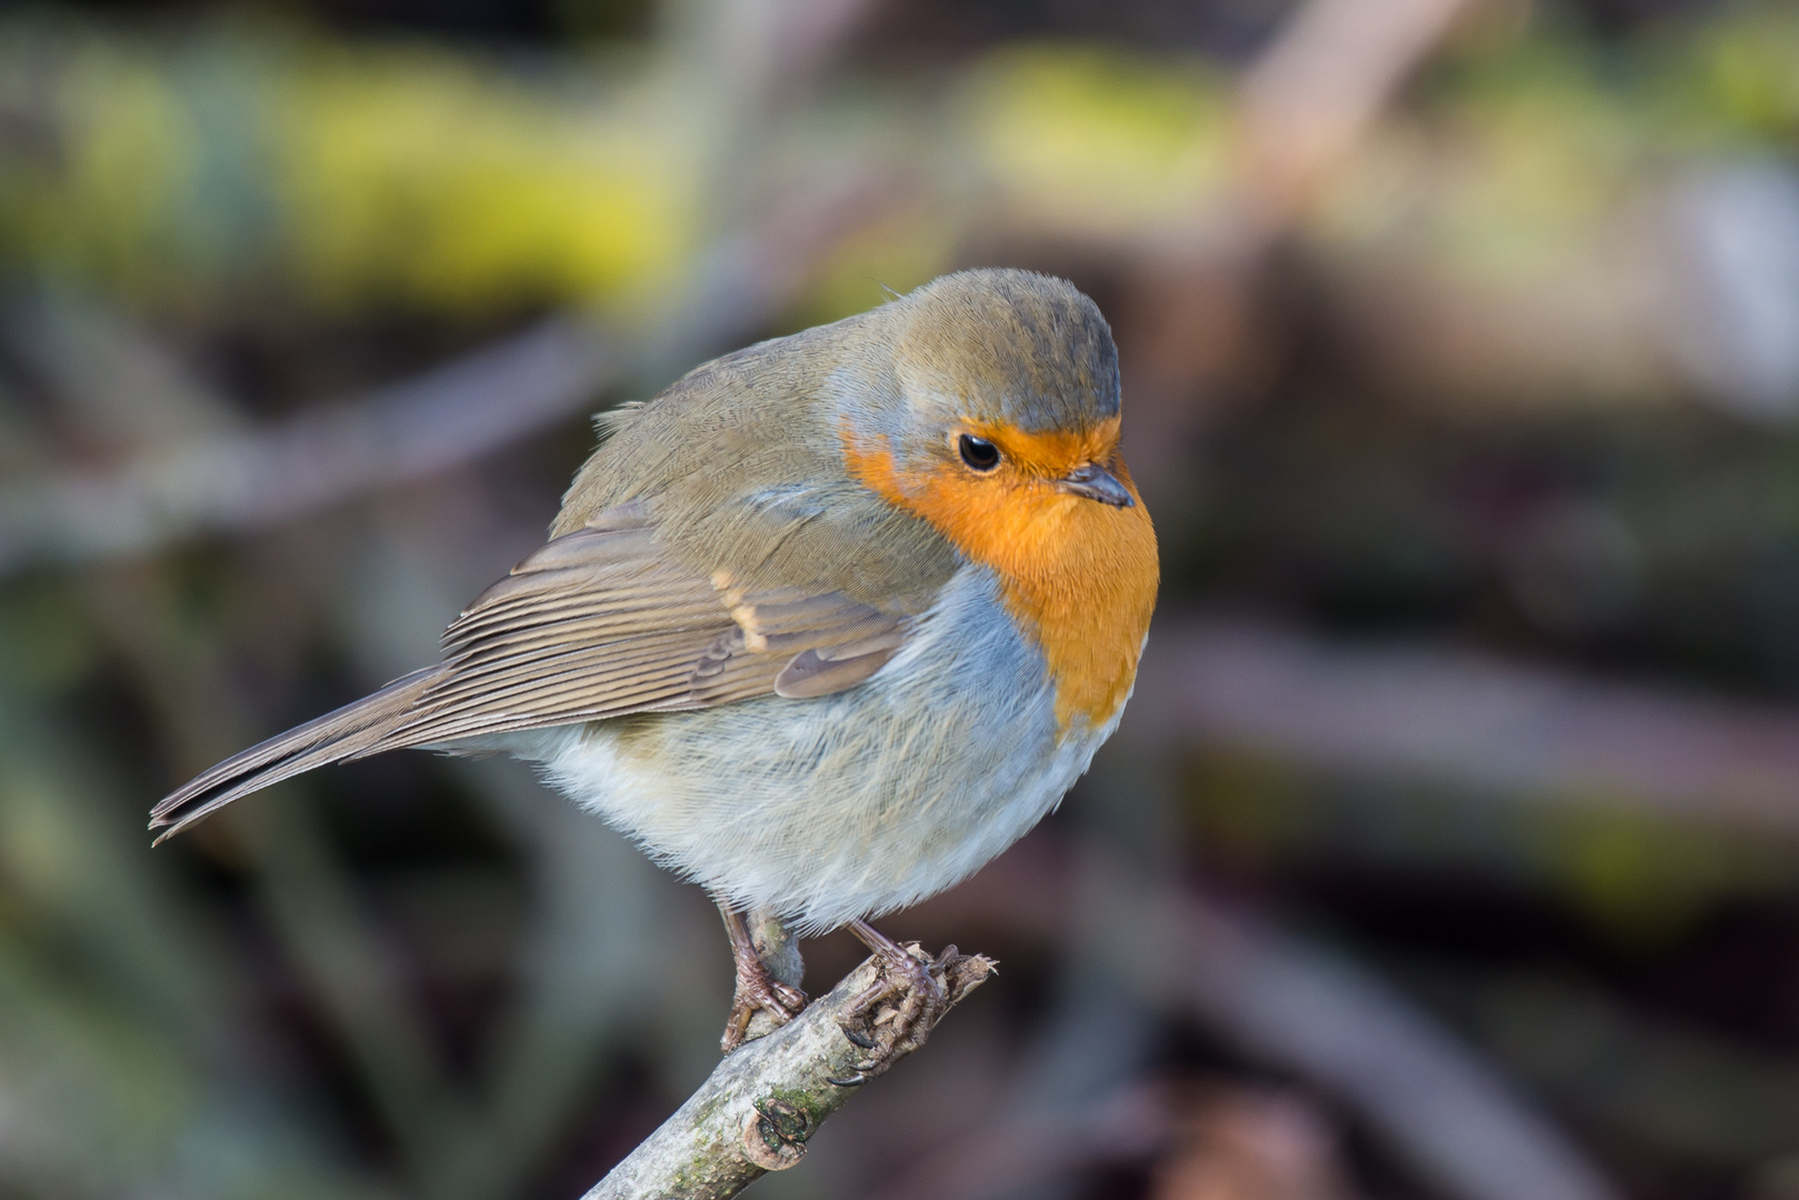
<svg viewBox="0 0 1799 1200">
<path fill-rule="evenodd" d="M 529 756 L 658 862 L 820 932 L 977 871 L 1115 723 L 1058 736 L 1042 653 L 964 567 L 867 684 L 550 730 Z"/>
</svg>

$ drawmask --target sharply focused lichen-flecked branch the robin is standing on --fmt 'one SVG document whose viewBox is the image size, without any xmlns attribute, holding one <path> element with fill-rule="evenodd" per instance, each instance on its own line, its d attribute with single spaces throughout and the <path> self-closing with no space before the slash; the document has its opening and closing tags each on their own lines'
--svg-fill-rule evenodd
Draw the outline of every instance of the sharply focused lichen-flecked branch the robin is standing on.
<svg viewBox="0 0 1799 1200">
<path fill-rule="evenodd" d="M 991 970 L 980 955 L 952 959 L 944 972 L 952 1004 Z M 837 1079 L 856 1076 L 864 1051 L 844 1036 L 838 1016 L 874 979 L 874 959 L 865 959 L 790 1024 L 727 1056 L 585 1200 L 725 1200 L 797 1164 L 819 1124 L 855 1090 Z"/>
</svg>

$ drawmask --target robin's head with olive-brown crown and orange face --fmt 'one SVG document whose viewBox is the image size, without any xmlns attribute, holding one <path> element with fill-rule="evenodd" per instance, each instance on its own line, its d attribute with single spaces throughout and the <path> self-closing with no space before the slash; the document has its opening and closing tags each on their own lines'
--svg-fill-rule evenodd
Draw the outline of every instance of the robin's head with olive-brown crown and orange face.
<svg viewBox="0 0 1799 1200">
<path fill-rule="evenodd" d="M 900 403 L 846 416 L 856 479 L 1007 572 L 1144 540 L 1153 560 L 1119 453 L 1117 347 L 1090 299 L 1061 279 L 975 270 L 882 315 Z"/>
</svg>

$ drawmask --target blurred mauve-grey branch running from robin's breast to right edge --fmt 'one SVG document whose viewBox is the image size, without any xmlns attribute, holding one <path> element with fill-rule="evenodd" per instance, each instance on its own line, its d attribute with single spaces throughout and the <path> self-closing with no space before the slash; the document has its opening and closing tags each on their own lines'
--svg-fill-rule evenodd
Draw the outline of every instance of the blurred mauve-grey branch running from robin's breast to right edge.
<svg viewBox="0 0 1799 1200">
<path fill-rule="evenodd" d="M 1410 646 L 1187 621 L 1144 658 L 1139 732 L 1333 772 L 1799 831 L 1799 714 Z"/>
</svg>

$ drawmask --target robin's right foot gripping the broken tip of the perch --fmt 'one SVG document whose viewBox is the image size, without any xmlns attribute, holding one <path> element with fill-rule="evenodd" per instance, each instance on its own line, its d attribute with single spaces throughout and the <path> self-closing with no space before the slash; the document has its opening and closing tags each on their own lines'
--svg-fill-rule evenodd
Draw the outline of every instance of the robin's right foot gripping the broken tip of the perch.
<svg viewBox="0 0 1799 1200">
<path fill-rule="evenodd" d="M 837 1018 L 844 1036 L 865 1051 L 855 1076 L 833 1079 L 846 1087 L 867 1083 L 925 1045 L 937 1020 L 993 973 L 993 959 L 955 946 L 932 957 L 916 941 L 901 946 L 867 925 L 855 932 L 874 950 L 876 975 Z"/>
</svg>

